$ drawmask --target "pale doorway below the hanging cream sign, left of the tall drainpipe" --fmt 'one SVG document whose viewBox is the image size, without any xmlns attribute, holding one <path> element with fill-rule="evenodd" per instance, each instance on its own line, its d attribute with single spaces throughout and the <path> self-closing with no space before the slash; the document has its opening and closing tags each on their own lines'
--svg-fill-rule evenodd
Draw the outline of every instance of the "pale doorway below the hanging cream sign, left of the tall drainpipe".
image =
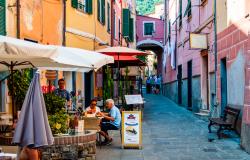
<svg viewBox="0 0 250 160">
<path fill-rule="evenodd" d="M 202 56 L 201 71 L 201 92 L 202 92 L 202 109 L 209 110 L 209 75 L 208 75 L 208 55 Z"/>
</svg>

